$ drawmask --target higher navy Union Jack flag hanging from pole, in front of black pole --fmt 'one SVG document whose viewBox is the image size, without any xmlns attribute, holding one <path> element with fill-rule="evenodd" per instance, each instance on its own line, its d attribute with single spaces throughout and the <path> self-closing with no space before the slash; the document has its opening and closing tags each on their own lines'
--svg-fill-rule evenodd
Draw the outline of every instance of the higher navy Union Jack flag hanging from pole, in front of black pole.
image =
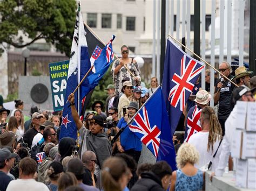
<svg viewBox="0 0 256 191">
<path fill-rule="evenodd" d="M 169 115 L 172 135 L 181 112 L 193 90 L 204 64 L 186 54 L 170 39 L 167 40 L 163 75 L 163 94 Z"/>
</svg>

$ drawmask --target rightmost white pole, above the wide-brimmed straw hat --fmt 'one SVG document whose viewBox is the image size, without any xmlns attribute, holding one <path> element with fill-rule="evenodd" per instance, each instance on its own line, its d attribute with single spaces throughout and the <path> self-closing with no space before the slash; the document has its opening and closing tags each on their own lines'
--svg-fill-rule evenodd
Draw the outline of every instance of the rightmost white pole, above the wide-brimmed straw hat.
<svg viewBox="0 0 256 191">
<path fill-rule="evenodd" d="M 245 2 L 239 0 L 239 66 L 244 66 L 244 10 Z"/>
</svg>

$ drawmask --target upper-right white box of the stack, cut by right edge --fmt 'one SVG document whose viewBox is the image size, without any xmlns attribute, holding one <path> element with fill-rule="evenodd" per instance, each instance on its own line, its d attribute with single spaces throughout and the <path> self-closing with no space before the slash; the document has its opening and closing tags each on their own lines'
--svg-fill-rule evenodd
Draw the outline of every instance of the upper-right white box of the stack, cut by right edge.
<svg viewBox="0 0 256 191">
<path fill-rule="evenodd" d="M 256 103 L 255 102 L 247 102 L 246 130 L 256 131 Z"/>
</svg>

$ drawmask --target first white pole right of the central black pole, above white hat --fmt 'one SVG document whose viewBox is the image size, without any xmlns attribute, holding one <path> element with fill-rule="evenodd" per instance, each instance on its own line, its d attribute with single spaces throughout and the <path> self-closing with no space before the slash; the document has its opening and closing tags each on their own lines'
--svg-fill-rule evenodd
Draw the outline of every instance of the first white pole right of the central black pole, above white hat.
<svg viewBox="0 0 256 191">
<path fill-rule="evenodd" d="M 212 18 L 211 18 L 211 65 L 215 67 L 215 0 L 212 0 Z M 214 94 L 214 70 L 211 68 L 211 95 Z M 210 102 L 211 107 L 214 107 L 213 99 Z"/>
</svg>

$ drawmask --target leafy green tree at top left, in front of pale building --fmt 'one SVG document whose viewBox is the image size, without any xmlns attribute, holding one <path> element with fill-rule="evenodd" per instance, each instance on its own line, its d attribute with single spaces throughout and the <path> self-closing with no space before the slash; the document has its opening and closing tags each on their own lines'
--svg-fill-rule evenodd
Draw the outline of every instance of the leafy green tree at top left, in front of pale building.
<svg viewBox="0 0 256 191">
<path fill-rule="evenodd" d="M 0 43 L 23 48 L 45 39 L 69 56 L 76 8 L 75 0 L 2 0 Z M 30 41 L 25 43 L 19 31 Z"/>
</svg>

